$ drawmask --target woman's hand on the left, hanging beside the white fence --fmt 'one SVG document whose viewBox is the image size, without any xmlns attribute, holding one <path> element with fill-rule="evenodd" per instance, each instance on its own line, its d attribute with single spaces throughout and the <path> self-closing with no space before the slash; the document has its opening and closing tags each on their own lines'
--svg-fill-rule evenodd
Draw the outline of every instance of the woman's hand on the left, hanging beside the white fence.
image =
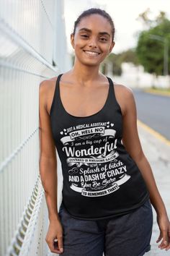
<svg viewBox="0 0 170 256">
<path fill-rule="evenodd" d="M 55 239 L 57 239 L 57 242 L 54 241 Z M 50 221 L 45 241 L 51 252 L 63 253 L 63 228 L 60 221 Z"/>
</svg>

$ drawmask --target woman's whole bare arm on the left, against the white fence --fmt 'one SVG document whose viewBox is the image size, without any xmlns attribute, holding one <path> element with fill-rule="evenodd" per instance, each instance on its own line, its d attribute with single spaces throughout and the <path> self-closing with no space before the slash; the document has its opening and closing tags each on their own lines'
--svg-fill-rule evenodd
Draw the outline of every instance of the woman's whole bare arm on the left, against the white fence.
<svg viewBox="0 0 170 256">
<path fill-rule="evenodd" d="M 57 158 L 50 116 L 47 111 L 49 83 L 45 80 L 40 83 L 39 90 L 39 129 L 40 129 L 40 177 L 45 190 L 45 200 L 48 205 L 50 221 L 46 242 L 51 252 L 63 252 L 63 229 L 58 216 L 57 207 Z M 54 239 L 58 239 L 54 246 Z"/>
</svg>

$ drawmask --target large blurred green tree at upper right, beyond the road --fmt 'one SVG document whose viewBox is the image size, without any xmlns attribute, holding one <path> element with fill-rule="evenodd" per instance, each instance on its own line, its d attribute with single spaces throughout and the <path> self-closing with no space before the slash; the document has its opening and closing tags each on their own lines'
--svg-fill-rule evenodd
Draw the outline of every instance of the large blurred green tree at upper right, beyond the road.
<svg viewBox="0 0 170 256">
<path fill-rule="evenodd" d="M 148 22 L 148 13 L 144 13 L 140 14 L 139 16 L 143 19 L 144 22 Z M 162 75 L 164 74 L 165 39 L 170 49 L 170 21 L 166 18 L 165 12 L 160 12 L 155 20 L 149 21 L 149 24 L 150 27 L 148 28 L 148 30 L 143 30 L 139 34 L 136 54 L 138 56 L 139 63 L 143 65 L 146 72 L 156 75 Z M 153 38 L 153 35 L 156 35 L 157 38 L 162 38 L 162 41 L 156 40 L 156 36 L 155 38 Z"/>
</svg>

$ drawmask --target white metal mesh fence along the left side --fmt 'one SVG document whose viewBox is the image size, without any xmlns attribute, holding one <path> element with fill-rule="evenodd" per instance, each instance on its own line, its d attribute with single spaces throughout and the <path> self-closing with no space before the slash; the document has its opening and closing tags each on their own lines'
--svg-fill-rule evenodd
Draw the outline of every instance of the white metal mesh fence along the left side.
<svg viewBox="0 0 170 256">
<path fill-rule="evenodd" d="M 39 175 L 39 85 L 70 67 L 63 17 L 60 0 L 0 0 L 1 256 L 50 255 Z"/>
</svg>

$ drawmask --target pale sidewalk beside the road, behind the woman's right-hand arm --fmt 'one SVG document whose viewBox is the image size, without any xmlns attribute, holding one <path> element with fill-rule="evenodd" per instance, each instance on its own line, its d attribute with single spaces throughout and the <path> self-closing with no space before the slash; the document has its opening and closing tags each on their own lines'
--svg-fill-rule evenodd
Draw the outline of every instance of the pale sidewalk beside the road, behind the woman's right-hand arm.
<svg viewBox="0 0 170 256">
<path fill-rule="evenodd" d="M 148 132 L 140 123 L 138 123 L 138 133 L 143 151 L 151 165 L 158 190 L 164 200 L 170 218 L 170 145 L 153 135 L 152 132 Z M 170 251 L 166 252 L 158 248 L 156 243 L 158 235 L 159 229 L 153 208 L 153 235 L 151 238 L 151 251 L 146 253 L 147 256 L 170 255 Z"/>
</svg>

